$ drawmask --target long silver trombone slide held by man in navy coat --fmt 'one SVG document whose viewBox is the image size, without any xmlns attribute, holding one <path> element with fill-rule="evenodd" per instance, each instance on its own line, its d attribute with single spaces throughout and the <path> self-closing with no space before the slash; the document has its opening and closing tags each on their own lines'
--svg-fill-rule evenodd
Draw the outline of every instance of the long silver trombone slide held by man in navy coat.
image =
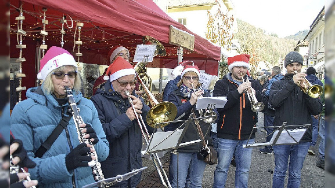
<svg viewBox="0 0 335 188">
<path fill-rule="evenodd" d="M 148 145 L 149 144 L 149 140 L 150 140 L 150 134 L 149 134 L 149 132 L 148 132 L 148 130 L 147 130 L 145 124 L 144 124 L 143 118 L 142 118 L 141 115 L 139 115 L 139 114 L 136 113 L 135 107 L 133 105 L 133 100 L 129 96 L 130 92 L 129 91 L 125 91 L 125 94 L 127 95 L 128 101 L 130 103 L 130 106 L 133 109 L 133 112 L 134 112 L 136 120 L 137 120 L 137 124 L 140 127 L 140 129 L 141 129 L 141 132 L 142 132 L 143 138 L 145 140 L 145 143 Z M 155 168 L 157 170 L 157 173 L 158 173 L 158 175 L 159 175 L 159 177 L 160 177 L 160 179 L 162 181 L 163 186 L 171 188 L 171 184 L 169 182 L 169 179 L 167 178 L 167 175 L 165 173 L 165 170 L 163 169 L 163 165 L 160 162 L 157 153 L 153 153 L 153 154 L 150 154 L 150 155 L 151 155 L 151 159 L 153 161 L 153 164 L 155 165 Z"/>
</svg>

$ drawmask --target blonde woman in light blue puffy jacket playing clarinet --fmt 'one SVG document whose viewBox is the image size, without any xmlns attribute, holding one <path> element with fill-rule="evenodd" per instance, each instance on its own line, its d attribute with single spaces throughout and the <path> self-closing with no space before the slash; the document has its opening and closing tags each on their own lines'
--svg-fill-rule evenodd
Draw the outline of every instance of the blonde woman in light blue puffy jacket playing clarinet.
<svg viewBox="0 0 335 188">
<path fill-rule="evenodd" d="M 68 51 L 52 46 L 41 59 L 38 78 L 44 80 L 42 86 L 29 88 L 27 99 L 15 105 L 10 117 L 13 136 L 23 142 L 29 158 L 36 163 L 36 167 L 29 169 L 31 179 L 38 180 L 40 188 L 94 183 L 88 161 L 95 157 L 87 156 L 93 149 L 89 144 L 79 143 L 65 87 L 72 89 L 83 119 L 79 125 L 83 128 L 81 132 L 94 144 L 98 161 L 107 158 L 109 144 L 93 103 L 79 92 L 77 63 Z M 64 117 L 69 116 L 71 119 L 66 122 Z M 46 142 L 58 128 L 61 131 L 55 141 Z"/>
</svg>

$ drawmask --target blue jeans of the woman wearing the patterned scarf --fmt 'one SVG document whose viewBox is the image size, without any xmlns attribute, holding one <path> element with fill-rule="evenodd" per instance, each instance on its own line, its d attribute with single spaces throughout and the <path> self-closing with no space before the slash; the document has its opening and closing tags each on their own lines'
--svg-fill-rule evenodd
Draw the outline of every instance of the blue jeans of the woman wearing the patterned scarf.
<svg viewBox="0 0 335 188">
<path fill-rule="evenodd" d="M 177 167 L 177 161 L 179 161 L 178 167 Z M 173 154 L 172 163 L 173 163 L 172 164 L 173 188 L 177 188 L 177 176 L 178 176 L 178 188 L 185 187 L 188 170 L 190 171 L 190 188 L 193 187 L 201 188 L 202 176 L 204 174 L 206 163 L 197 158 L 197 153 L 179 152 L 178 159 L 177 155 Z"/>
</svg>

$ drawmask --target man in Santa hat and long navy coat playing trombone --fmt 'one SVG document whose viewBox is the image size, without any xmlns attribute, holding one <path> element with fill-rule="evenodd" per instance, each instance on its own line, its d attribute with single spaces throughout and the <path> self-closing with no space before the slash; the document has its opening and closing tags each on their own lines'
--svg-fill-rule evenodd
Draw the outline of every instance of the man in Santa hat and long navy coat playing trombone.
<svg viewBox="0 0 335 188">
<path fill-rule="evenodd" d="M 136 72 L 124 58 L 118 57 L 108 67 L 106 75 L 104 79 L 107 82 L 97 89 L 91 100 L 110 143 L 109 156 L 101 163 L 105 178 L 110 178 L 142 167 L 142 133 L 134 110 L 146 124 L 150 108 L 135 94 Z M 133 106 L 128 97 L 132 99 Z M 115 186 L 136 187 L 140 180 L 141 173 L 138 173 Z"/>
</svg>

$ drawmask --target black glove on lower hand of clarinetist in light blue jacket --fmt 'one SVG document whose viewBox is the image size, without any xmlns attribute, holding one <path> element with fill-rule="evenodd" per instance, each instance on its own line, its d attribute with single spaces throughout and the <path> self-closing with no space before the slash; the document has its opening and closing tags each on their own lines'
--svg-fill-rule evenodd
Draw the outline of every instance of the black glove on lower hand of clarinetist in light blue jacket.
<svg viewBox="0 0 335 188">
<path fill-rule="evenodd" d="M 86 143 L 81 143 L 68 153 L 65 157 L 67 170 L 70 171 L 81 166 L 88 166 L 87 163 L 92 161 L 92 158 L 87 156 L 89 151 L 90 148 L 86 146 Z"/>
</svg>

